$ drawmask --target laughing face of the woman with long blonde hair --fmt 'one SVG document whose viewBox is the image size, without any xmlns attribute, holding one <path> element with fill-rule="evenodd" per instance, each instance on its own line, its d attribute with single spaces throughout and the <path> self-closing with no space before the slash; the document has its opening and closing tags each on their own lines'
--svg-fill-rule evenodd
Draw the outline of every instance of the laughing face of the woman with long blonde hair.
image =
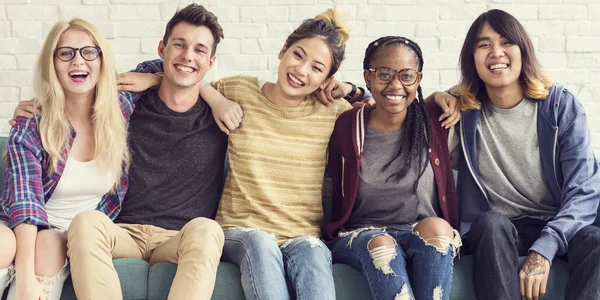
<svg viewBox="0 0 600 300">
<path fill-rule="evenodd" d="M 92 37 L 87 32 L 69 29 L 60 36 L 56 48 L 83 48 L 89 46 L 96 47 Z M 59 51 L 61 50 L 59 49 Z M 65 97 L 93 95 L 100 77 L 101 64 L 101 55 L 98 55 L 92 61 L 83 59 L 79 51 L 75 51 L 75 57 L 70 61 L 62 61 L 55 55 L 54 70 Z"/>
</svg>

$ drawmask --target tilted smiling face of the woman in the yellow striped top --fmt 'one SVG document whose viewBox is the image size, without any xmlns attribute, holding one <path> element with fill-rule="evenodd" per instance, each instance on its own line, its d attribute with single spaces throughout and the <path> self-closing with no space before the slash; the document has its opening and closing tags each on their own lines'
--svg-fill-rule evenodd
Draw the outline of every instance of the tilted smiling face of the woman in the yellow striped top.
<svg viewBox="0 0 600 300">
<path fill-rule="evenodd" d="M 327 79 L 331 51 L 321 38 L 305 38 L 279 53 L 276 85 L 290 99 L 304 98 Z"/>
</svg>

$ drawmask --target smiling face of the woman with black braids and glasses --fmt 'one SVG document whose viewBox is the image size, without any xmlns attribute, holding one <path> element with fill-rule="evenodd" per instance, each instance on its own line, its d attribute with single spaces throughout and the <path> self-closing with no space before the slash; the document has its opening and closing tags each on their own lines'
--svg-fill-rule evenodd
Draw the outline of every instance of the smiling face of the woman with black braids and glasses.
<svg viewBox="0 0 600 300">
<path fill-rule="evenodd" d="M 371 69 L 379 67 L 388 67 L 392 70 L 419 69 L 417 56 L 411 49 L 396 44 L 384 47 L 371 61 Z M 418 73 L 414 84 L 404 86 L 398 76 L 399 74 L 395 73 L 394 78 L 386 84 L 376 78 L 374 71 L 365 71 L 364 73 L 365 82 L 373 94 L 377 110 L 382 109 L 392 116 L 406 115 L 406 108 L 417 97 L 417 88 L 422 78 L 421 73 Z"/>
</svg>

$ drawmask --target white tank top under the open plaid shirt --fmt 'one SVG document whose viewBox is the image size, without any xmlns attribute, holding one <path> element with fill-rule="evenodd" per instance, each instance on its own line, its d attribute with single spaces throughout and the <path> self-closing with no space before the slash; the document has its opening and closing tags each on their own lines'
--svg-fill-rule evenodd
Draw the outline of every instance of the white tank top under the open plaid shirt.
<svg viewBox="0 0 600 300">
<path fill-rule="evenodd" d="M 48 223 L 66 231 L 80 212 L 94 210 L 113 186 L 107 171 L 100 171 L 95 160 L 67 159 L 60 181 L 46 202 Z"/>
</svg>

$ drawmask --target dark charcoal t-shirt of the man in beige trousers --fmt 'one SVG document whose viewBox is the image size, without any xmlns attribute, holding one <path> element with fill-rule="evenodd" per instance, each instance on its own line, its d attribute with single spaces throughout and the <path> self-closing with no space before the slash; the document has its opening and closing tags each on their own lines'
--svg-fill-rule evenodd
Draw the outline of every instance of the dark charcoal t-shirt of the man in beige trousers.
<svg viewBox="0 0 600 300">
<path fill-rule="evenodd" d="M 115 223 L 180 230 L 193 218 L 214 218 L 227 136 L 204 100 L 180 113 L 148 90 L 131 115 L 129 148 L 129 190 Z"/>
</svg>

